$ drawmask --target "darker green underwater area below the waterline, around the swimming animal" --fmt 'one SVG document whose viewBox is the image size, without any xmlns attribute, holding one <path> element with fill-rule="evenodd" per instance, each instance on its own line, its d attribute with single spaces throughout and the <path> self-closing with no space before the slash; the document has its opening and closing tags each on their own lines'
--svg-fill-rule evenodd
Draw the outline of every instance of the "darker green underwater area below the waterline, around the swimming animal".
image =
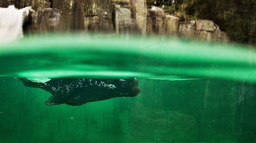
<svg viewBox="0 0 256 143">
<path fill-rule="evenodd" d="M 139 79 L 137 97 L 46 106 L 50 94 L 0 78 L 3 142 L 255 141 L 254 84 Z M 216 90 L 218 89 L 218 90 Z"/>
</svg>

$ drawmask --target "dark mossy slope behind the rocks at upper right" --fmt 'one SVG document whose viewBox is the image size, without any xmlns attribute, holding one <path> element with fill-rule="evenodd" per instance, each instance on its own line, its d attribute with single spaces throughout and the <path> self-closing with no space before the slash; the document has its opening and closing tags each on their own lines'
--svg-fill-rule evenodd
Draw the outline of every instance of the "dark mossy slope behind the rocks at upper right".
<svg viewBox="0 0 256 143">
<path fill-rule="evenodd" d="M 149 1 L 149 2 L 148 2 Z M 231 40 L 256 46 L 255 0 L 148 0 L 163 6 L 165 13 L 182 12 L 192 19 L 213 20 Z"/>
</svg>

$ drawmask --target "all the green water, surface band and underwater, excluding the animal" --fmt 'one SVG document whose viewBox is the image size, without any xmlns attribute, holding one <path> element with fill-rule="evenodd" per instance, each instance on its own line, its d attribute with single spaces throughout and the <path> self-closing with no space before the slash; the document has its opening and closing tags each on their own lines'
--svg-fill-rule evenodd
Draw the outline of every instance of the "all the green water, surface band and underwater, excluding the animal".
<svg viewBox="0 0 256 143">
<path fill-rule="evenodd" d="M 256 51 L 165 37 L 34 36 L 0 46 L 0 142 L 256 142 Z M 14 77 L 136 77 L 141 93 L 46 106 Z"/>
</svg>

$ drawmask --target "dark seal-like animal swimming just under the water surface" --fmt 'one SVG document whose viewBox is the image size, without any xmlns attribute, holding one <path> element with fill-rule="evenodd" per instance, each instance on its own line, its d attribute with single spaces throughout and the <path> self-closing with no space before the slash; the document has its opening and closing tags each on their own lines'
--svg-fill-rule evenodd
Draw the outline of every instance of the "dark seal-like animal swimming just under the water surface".
<svg viewBox="0 0 256 143">
<path fill-rule="evenodd" d="M 55 78 L 48 82 L 35 82 L 27 78 L 17 78 L 25 86 L 41 88 L 52 94 L 45 104 L 83 105 L 114 97 L 135 97 L 139 94 L 139 82 L 136 78 L 126 79 L 89 79 Z"/>
</svg>

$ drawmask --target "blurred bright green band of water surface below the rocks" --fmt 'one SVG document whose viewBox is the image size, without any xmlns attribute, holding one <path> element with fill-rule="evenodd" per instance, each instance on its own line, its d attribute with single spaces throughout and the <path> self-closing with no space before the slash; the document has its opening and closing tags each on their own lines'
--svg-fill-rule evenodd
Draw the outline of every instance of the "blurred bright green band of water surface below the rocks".
<svg viewBox="0 0 256 143">
<path fill-rule="evenodd" d="M 256 81 L 254 49 L 160 36 L 34 36 L 2 45 L 0 56 L 2 76 L 181 76 Z"/>
</svg>

